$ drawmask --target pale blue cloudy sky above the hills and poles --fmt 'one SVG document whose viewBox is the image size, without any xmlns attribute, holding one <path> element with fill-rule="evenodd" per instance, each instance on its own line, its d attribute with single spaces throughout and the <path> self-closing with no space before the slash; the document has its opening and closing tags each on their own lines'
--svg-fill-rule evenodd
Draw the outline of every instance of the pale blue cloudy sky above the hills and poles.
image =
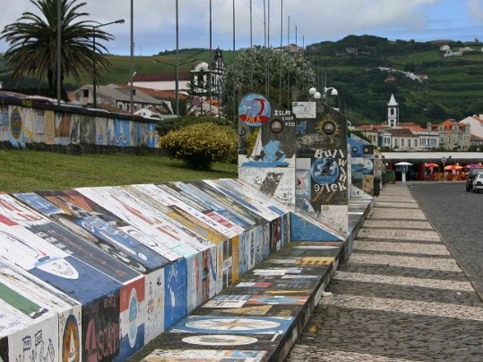
<svg viewBox="0 0 483 362">
<path fill-rule="evenodd" d="M 29 0 L 0 0 L 0 29 L 16 21 L 23 12 L 35 7 Z M 107 44 L 115 55 L 129 54 L 130 1 L 84 0 L 82 8 L 90 13 L 86 20 L 101 23 L 125 19 L 105 29 L 116 36 Z M 263 44 L 263 0 L 253 2 L 254 44 Z M 268 4 L 269 0 L 265 0 Z M 250 0 L 235 0 L 236 47 L 250 44 Z M 280 45 L 280 3 L 271 0 L 271 43 Z M 174 49 L 176 0 L 134 1 L 135 55 L 153 55 Z M 283 0 L 283 44 L 312 44 L 323 40 L 339 40 L 350 34 L 370 34 L 390 39 L 426 41 L 451 38 L 483 40 L 483 0 Z M 178 0 L 179 46 L 209 46 L 209 1 Z M 212 0 L 213 47 L 232 47 L 232 0 Z M 8 45 L 0 40 L 0 53 Z"/>
</svg>

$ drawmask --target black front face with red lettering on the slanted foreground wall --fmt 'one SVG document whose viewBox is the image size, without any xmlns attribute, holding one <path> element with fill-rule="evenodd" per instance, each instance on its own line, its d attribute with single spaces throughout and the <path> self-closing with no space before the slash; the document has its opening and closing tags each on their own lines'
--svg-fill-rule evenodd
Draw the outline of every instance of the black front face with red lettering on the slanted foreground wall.
<svg viewBox="0 0 483 362">
<path fill-rule="evenodd" d="M 119 291 L 82 306 L 82 361 L 108 362 L 120 349 Z"/>
</svg>

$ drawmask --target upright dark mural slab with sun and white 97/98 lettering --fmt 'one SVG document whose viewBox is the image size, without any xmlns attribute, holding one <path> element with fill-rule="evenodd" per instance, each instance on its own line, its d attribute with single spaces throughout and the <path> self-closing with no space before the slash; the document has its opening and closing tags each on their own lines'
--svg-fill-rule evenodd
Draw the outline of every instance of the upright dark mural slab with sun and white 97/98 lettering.
<svg viewBox="0 0 483 362">
<path fill-rule="evenodd" d="M 300 97 L 297 115 L 296 210 L 347 232 L 347 120 L 331 107 Z"/>
</svg>

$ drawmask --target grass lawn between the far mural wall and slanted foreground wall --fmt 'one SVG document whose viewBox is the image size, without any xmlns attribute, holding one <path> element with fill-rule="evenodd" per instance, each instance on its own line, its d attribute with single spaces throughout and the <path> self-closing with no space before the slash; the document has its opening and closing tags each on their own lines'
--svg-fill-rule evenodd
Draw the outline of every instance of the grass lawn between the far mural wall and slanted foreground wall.
<svg viewBox="0 0 483 362">
<path fill-rule="evenodd" d="M 213 164 L 211 171 L 201 172 L 160 156 L 0 150 L 0 192 L 219 178 L 237 178 L 237 164 Z"/>
</svg>

